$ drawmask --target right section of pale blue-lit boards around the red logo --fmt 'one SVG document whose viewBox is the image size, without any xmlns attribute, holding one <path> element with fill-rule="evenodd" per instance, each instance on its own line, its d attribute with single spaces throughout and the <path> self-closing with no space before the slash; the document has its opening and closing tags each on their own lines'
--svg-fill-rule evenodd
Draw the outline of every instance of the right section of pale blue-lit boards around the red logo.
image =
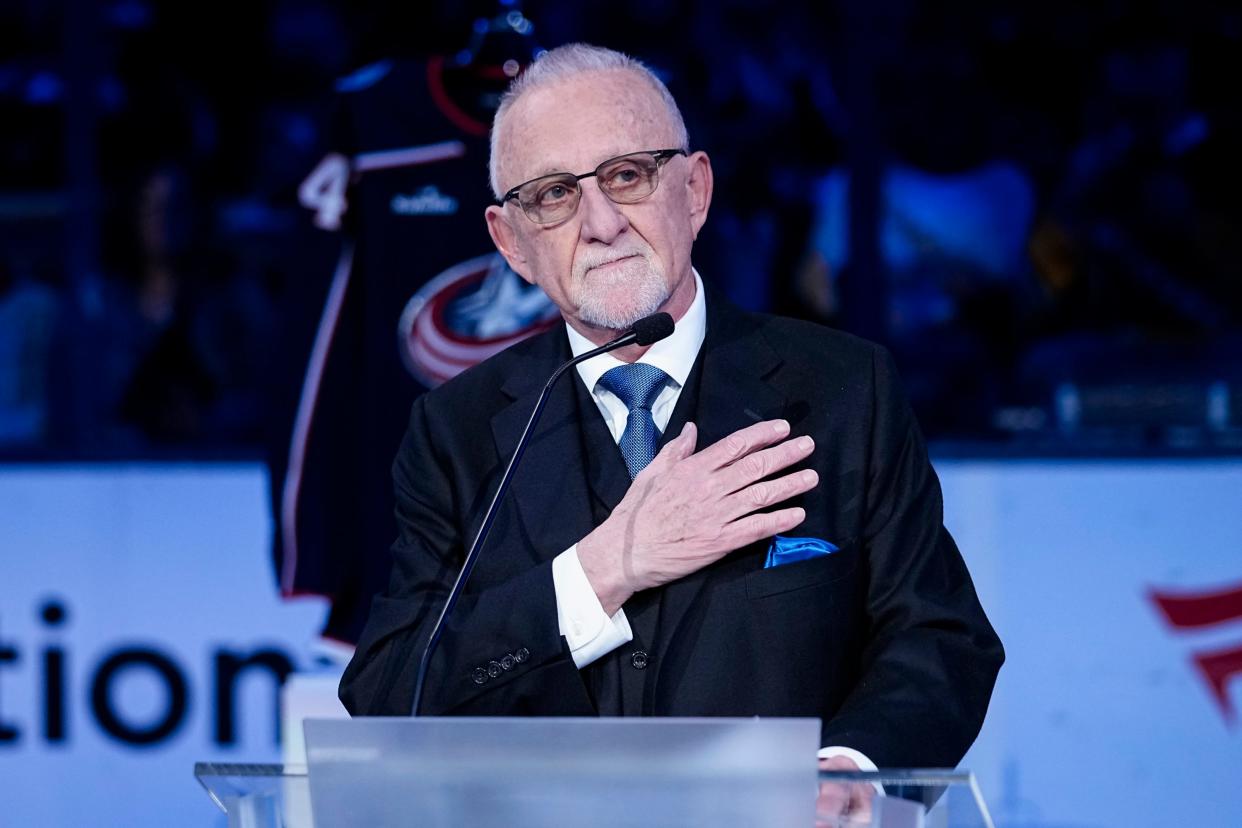
<svg viewBox="0 0 1242 828">
<path fill-rule="evenodd" d="M 1242 826 L 1242 662 L 1228 704 L 1196 662 L 1242 654 L 1242 462 L 936 468 L 1007 654 L 963 762 L 996 824 Z M 1175 627 L 1154 593 L 1220 619 Z"/>
</svg>

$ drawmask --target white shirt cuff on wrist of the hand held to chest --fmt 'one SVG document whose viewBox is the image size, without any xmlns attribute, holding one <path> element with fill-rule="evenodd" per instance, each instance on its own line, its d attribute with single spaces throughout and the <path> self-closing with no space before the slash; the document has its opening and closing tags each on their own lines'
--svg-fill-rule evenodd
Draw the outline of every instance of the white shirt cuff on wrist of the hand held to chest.
<svg viewBox="0 0 1242 828">
<path fill-rule="evenodd" d="M 569 652 L 579 669 L 633 641 L 625 610 L 617 610 L 611 618 L 604 612 L 604 606 L 578 560 L 578 544 L 553 559 L 551 582 L 556 591 L 560 634 L 569 643 Z"/>
</svg>

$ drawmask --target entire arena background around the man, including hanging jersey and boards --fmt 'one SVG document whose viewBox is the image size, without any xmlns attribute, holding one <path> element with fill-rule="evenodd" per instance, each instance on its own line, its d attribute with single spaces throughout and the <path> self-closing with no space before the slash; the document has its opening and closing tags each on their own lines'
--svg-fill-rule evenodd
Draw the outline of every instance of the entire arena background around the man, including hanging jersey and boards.
<svg viewBox="0 0 1242 828">
<path fill-rule="evenodd" d="M 705 282 L 892 350 L 996 824 L 1238 824 L 1242 10 L 913 0 L 0 4 L 0 824 L 222 826 L 195 761 L 344 715 L 411 402 L 559 323 L 482 212 L 573 41 L 710 155 Z"/>
</svg>

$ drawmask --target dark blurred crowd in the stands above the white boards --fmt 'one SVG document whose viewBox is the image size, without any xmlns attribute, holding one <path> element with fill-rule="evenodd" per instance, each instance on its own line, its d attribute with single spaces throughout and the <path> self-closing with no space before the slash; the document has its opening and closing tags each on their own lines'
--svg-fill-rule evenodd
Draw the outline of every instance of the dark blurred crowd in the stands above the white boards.
<svg viewBox="0 0 1242 828">
<path fill-rule="evenodd" d="M 0 457 L 262 452 L 334 81 L 515 4 L 422 5 L 0 7 Z M 930 438 L 1242 448 L 1236 6 L 520 7 L 667 78 L 704 278 L 887 344 Z"/>
</svg>

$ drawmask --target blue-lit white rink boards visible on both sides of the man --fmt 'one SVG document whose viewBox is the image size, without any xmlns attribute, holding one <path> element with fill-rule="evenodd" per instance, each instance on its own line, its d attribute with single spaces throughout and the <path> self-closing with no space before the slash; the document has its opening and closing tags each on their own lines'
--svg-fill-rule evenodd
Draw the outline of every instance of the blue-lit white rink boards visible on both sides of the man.
<svg viewBox="0 0 1242 828">
<path fill-rule="evenodd" d="M 964 767 L 1001 828 L 1242 824 L 1242 462 L 940 462 L 1005 642 Z M 195 761 L 277 761 L 257 467 L 0 468 L 0 824 L 220 826 Z"/>
</svg>

